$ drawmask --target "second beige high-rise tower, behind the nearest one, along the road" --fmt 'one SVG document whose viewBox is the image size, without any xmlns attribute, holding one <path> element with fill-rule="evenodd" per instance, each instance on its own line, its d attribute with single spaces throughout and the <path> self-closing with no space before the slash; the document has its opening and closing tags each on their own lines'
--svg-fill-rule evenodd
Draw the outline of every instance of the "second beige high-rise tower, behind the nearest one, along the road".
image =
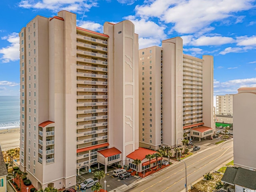
<svg viewBox="0 0 256 192">
<path fill-rule="evenodd" d="M 214 134 L 213 57 L 183 54 L 182 38 L 139 50 L 140 146 L 200 140 Z M 192 129 L 194 128 L 194 129 Z"/>
</svg>

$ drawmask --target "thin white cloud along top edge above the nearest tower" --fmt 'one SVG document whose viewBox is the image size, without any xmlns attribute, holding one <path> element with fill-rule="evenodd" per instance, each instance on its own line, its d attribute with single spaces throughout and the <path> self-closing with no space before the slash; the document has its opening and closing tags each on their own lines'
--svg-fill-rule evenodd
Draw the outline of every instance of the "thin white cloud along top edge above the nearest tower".
<svg viewBox="0 0 256 192">
<path fill-rule="evenodd" d="M 97 2 L 86 0 L 22 0 L 18 4 L 21 8 L 48 9 L 54 11 L 67 10 L 72 12 L 89 11 L 92 6 L 97 6 Z"/>
</svg>

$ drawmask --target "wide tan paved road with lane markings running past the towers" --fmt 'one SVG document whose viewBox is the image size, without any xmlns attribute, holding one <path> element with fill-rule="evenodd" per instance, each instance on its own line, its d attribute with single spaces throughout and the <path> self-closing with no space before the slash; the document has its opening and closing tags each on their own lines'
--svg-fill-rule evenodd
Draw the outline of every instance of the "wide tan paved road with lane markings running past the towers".
<svg viewBox="0 0 256 192">
<path fill-rule="evenodd" d="M 233 140 L 199 153 L 200 152 L 193 158 L 185 160 L 187 165 L 188 185 L 230 159 L 233 156 Z M 180 162 L 177 166 L 174 166 L 126 191 L 179 192 L 184 189 L 185 178 L 185 164 Z"/>
</svg>

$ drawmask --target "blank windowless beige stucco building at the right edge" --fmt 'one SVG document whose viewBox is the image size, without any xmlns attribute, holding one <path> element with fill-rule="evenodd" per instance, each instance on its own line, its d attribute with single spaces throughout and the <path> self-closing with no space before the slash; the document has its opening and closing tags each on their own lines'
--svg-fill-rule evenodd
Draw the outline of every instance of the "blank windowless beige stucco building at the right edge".
<svg viewBox="0 0 256 192">
<path fill-rule="evenodd" d="M 243 88 L 245 89 L 245 88 Z M 256 88 L 233 96 L 234 166 L 256 171 L 254 137 L 256 129 Z"/>
</svg>

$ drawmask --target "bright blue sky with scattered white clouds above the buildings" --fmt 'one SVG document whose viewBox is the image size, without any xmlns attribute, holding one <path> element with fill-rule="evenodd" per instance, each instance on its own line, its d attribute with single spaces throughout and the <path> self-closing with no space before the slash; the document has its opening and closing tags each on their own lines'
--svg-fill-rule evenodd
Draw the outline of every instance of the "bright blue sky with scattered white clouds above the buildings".
<svg viewBox="0 0 256 192">
<path fill-rule="evenodd" d="M 140 48 L 181 36 L 184 53 L 214 56 L 214 95 L 256 87 L 256 0 L 8 0 L 0 1 L 0 96 L 19 95 L 20 29 L 36 15 L 77 14 L 77 25 L 135 24 Z"/>
</svg>

